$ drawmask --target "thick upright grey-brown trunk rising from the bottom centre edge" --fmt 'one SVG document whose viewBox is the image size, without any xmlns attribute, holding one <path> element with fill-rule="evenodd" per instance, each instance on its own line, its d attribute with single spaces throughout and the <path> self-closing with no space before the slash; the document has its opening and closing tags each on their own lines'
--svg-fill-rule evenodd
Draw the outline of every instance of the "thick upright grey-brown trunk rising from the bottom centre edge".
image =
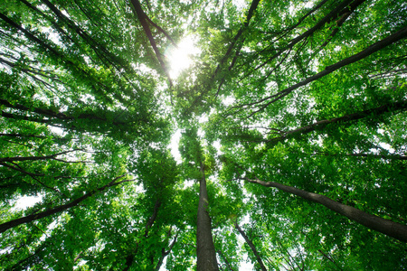
<svg viewBox="0 0 407 271">
<path fill-rule="evenodd" d="M 213 245 L 211 231 L 211 218 L 208 213 L 208 192 L 206 191 L 206 179 L 204 164 L 201 163 L 202 178 L 199 182 L 199 203 L 196 229 L 196 255 L 197 271 L 218 271 L 216 251 Z"/>
</svg>

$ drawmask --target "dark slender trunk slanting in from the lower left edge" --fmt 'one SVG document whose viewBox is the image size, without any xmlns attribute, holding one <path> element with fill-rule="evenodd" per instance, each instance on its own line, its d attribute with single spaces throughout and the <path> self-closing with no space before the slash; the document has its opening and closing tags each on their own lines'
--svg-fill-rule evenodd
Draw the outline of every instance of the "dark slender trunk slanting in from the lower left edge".
<svg viewBox="0 0 407 271">
<path fill-rule="evenodd" d="M 118 178 L 120 178 L 120 177 L 118 177 Z M 35 220 L 40 220 L 40 219 L 43 219 L 45 217 L 51 216 L 51 215 L 53 215 L 55 213 L 62 212 L 63 210 L 68 210 L 71 207 L 74 207 L 74 206 L 78 205 L 81 201 L 85 201 L 86 199 L 90 198 L 94 194 L 96 194 L 98 192 L 101 192 L 101 191 L 104 191 L 105 189 L 107 189 L 107 188 L 109 188 L 111 186 L 118 185 L 119 183 L 122 183 L 122 182 L 131 182 L 131 181 L 133 181 L 133 180 L 124 180 L 124 181 L 116 182 L 118 180 L 118 178 L 116 178 L 112 182 L 109 182 L 108 184 L 106 184 L 106 185 L 104 185 L 104 186 L 102 186 L 102 187 L 100 187 L 100 188 L 98 188 L 98 189 L 96 189 L 96 190 L 94 190 L 92 192 L 88 192 L 88 193 L 84 194 L 80 198 L 78 198 L 78 199 L 76 199 L 74 201 L 71 201 L 69 203 L 62 204 L 62 205 L 57 206 L 57 207 L 55 207 L 55 208 L 53 208 L 51 210 L 44 210 L 43 212 L 28 215 L 28 216 L 25 216 L 23 218 L 16 219 L 16 220 L 10 220 L 8 222 L 0 224 L 0 233 L 4 232 L 7 229 L 14 228 L 14 227 L 16 227 L 18 225 L 29 223 L 29 222 L 32 222 L 32 221 L 35 221 Z"/>
</svg>

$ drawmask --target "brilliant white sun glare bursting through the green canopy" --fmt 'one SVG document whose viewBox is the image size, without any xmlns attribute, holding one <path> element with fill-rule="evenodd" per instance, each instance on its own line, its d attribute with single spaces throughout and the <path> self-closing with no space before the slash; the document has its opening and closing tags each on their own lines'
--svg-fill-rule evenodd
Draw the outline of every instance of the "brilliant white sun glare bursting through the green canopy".
<svg viewBox="0 0 407 271">
<path fill-rule="evenodd" d="M 170 64 L 169 74 L 171 78 L 175 79 L 182 70 L 189 68 L 192 64 L 191 57 L 199 52 L 200 50 L 194 45 L 193 37 L 185 37 L 177 44 L 177 48 L 170 48 L 166 57 Z"/>
</svg>

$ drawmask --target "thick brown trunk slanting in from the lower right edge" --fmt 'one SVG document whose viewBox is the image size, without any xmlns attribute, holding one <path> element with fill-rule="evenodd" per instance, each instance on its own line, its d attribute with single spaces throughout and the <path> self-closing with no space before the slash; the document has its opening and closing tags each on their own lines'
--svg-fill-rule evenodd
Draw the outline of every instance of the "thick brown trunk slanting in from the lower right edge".
<svg viewBox="0 0 407 271">
<path fill-rule="evenodd" d="M 339 203 L 329 199 L 327 196 L 320 195 L 313 192 L 307 192 L 298 188 L 281 184 L 279 182 L 263 182 L 259 179 L 244 178 L 247 182 L 258 183 L 266 187 L 275 187 L 283 192 L 289 192 L 297 195 L 305 200 L 317 202 L 324 205 L 330 210 L 334 210 L 337 213 L 345 216 L 349 220 L 354 220 L 359 224 L 364 225 L 369 229 L 382 232 L 383 234 L 399 239 L 402 242 L 407 242 L 407 226 L 392 220 L 385 220 L 378 216 L 368 214 L 362 210 L 355 209 L 354 207 Z"/>
</svg>

